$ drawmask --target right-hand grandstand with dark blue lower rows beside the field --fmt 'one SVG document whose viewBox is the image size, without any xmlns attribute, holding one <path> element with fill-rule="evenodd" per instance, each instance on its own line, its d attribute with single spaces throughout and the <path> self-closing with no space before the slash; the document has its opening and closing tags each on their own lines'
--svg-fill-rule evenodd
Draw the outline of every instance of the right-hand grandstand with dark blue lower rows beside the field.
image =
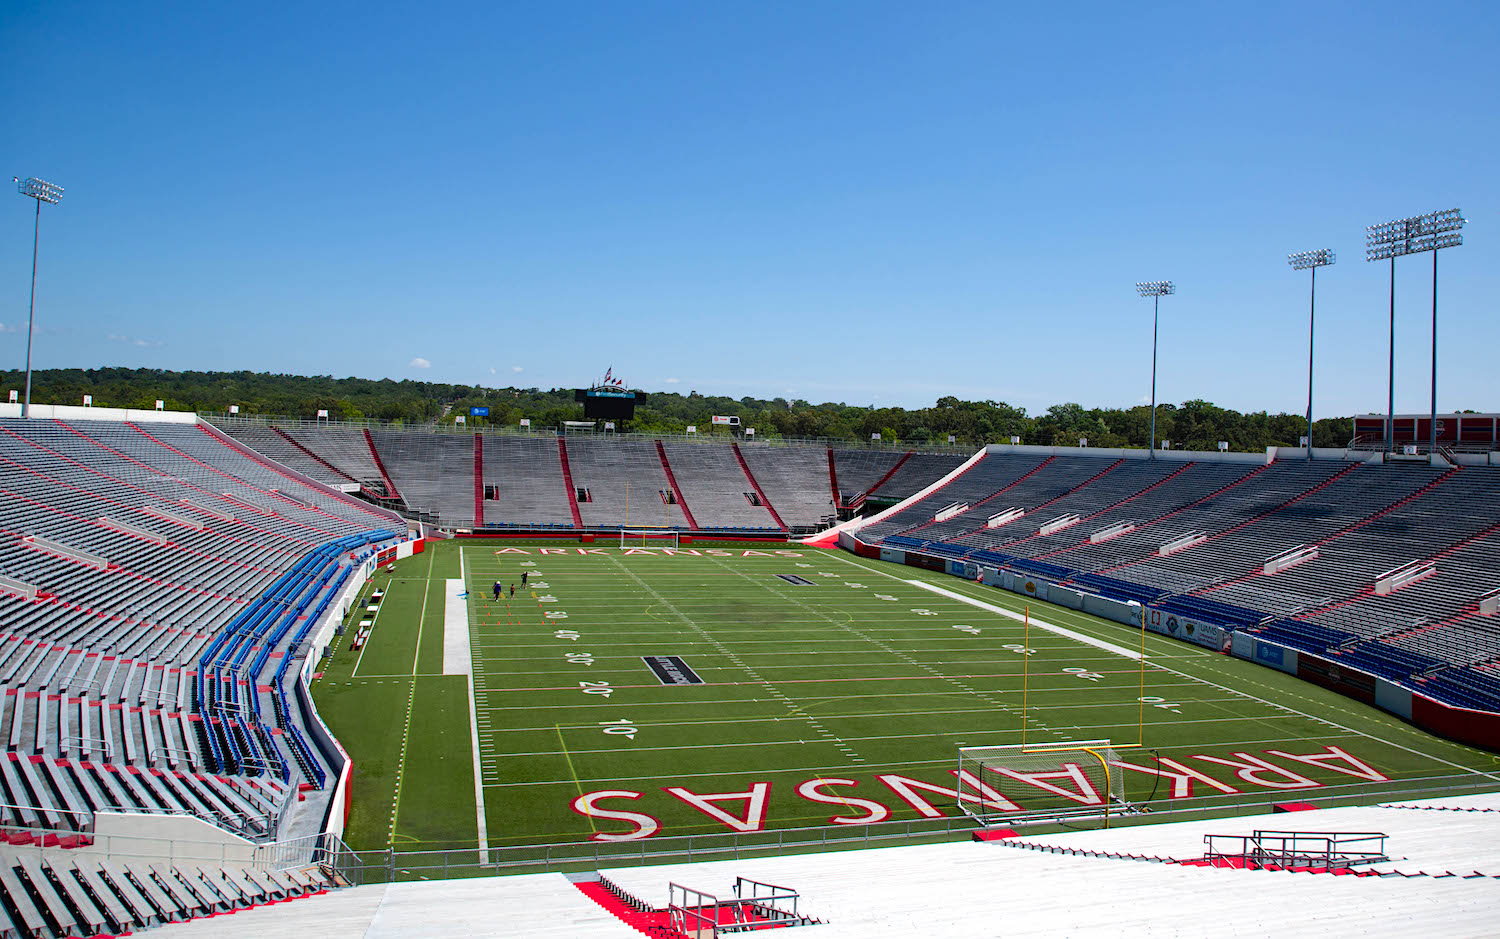
<svg viewBox="0 0 1500 939">
<path fill-rule="evenodd" d="M 1500 586 L 1500 471 L 1305 460 L 1110 466 L 1058 456 L 1022 472 L 1028 459 L 1035 462 L 990 453 L 858 537 L 1250 628 L 1500 711 L 1500 618 L 1479 614 L 1479 598 Z M 933 520 L 956 502 L 969 508 Z M 1026 512 L 986 526 L 1010 507 Z M 1066 513 L 1078 520 L 1041 532 L 1040 522 Z M 1173 542 L 1188 546 L 1164 550 Z M 1266 561 L 1288 550 L 1298 562 L 1266 573 Z M 1436 570 L 1376 591 L 1383 573 L 1408 562 Z"/>
</svg>

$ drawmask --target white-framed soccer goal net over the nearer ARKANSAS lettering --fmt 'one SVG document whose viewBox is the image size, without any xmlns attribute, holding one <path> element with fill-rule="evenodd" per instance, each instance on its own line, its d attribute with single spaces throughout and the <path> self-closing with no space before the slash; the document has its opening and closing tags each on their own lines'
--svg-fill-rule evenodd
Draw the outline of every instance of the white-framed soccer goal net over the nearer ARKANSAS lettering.
<svg viewBox="0 0 1500 939">
<path fill-rule="evenodd" d="M 1107 740 L 958 747 L 958 808 L 982 825 L 1078 819 L 1108 825 L 1126 808 Z"/>
</svg>

